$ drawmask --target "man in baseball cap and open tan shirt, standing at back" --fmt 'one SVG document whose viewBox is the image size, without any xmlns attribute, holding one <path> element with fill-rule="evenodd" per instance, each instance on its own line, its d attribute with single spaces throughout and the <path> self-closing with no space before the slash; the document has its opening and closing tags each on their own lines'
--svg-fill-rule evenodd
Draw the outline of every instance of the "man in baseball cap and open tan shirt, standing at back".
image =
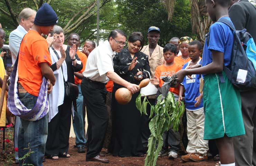
<svg viewBox="0 0 256 166">
<path fill-rule="evenodd" d="M 160 38 L 160 29 L 155 26 L 149 27 L 147 38 L 148 38 L 149 44 L 144 46 L 141 52 L 148 55 L 151 77 L 154 78 L 156 67 L 164 63 L 164 53 L 163 53 L 164 48 L 157 44 Z M 151 95 L 151 96 L 148 96 L 147 98 L 151 105 L 155 105 L 156 95 Z M 147 112 L 149 112 L 150 114 L 150 107 L 147 108 Z M 148 123 L 149 123 L 148 116 L 143 115 L 141 140 L 145 150 L 147 149 L 148 138 L 150 136 Z"/>
</svg>

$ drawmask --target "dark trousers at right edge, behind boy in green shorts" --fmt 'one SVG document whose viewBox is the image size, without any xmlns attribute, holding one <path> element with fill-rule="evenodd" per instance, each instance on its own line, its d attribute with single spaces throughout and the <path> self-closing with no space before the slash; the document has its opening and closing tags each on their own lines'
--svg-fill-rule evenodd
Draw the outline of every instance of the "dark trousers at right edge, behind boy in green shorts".
<svg viewBox="0 0 256 166">
<path fill-rule="evenodd" d="M 233 137 L 236 166 L 256 166 L 256 90 L 240 94 L 245 135 Z"/>
</svg>

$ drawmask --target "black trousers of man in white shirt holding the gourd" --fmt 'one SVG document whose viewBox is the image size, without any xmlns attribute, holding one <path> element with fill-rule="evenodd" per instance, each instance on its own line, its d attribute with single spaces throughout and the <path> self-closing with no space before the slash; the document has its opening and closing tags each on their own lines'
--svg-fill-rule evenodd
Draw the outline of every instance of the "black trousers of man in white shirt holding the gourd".
<svg viewBox="0 0 256 166">
<path fill-rule="evenodd" d="M 104 83 L 86 80 L 81 83 L 88 118 L 88 149 L 86 160 L 100 154 L 108 128 L 108 111 L 105 105 L 107 90 Z"/>
</svg>

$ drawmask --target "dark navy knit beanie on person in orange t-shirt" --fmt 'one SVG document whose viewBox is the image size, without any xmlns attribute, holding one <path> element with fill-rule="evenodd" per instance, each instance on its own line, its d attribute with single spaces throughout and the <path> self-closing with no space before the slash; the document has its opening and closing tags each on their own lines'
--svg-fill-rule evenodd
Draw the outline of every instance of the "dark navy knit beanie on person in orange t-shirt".
<svg viewBox="0 0 256 166">
<path fill-rule="evenodd" d="M 58 16 L 55 11 L 48 3 L 44 3 L 36 12 L 34 24 L 39 26 L 51 26 L 57 23 Z"/>
</svg>

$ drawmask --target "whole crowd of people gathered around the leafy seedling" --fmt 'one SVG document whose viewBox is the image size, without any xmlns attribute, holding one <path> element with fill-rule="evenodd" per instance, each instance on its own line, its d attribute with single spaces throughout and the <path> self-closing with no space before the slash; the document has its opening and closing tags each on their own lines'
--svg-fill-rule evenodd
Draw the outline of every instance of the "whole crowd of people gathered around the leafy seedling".
<svg viewBox="0 0 256 166">
<path fill-rule="evenodd" d="M 143 98 L 155 105 L 162 78 L 176 75 L 177 84 L 170 92 L 175 102 L 185 102 L 182 119 L 187 140 L 184 133 L 171 127 L 163 135 L 159 156 L 173 159 L 181 155 L 185 162 L 201 162 L 212 153 L 219 156 L 217 165 L 256 166 L 256 91 L 240 92 L 223 72 L 223 65 L 231 61 L 234 33 L 219 22 L 225 19 L 237 30 L 246 28 L 256 40 L 256 7 L 248 0 L 205 0 L 205 6 L 214 24 L 204 47 L 188 36 L 173 37 L 161 47 L 157 44 L 160 29 L 150 26 L 148 45 L 140 32 L 131 33 L 126 43 L 124 31 L 115 29 L 97 47 L 92 40 L 86 41 L 82 51 L 76 33 L 64 44 L 64 30 L 56 25 L 58 17 L 49 4 L 44 3 L 37 12 L 23 9 L 19 26 L 9 36 L 10 52 L 2 51 L 0 58 L 0 86 L 3 76 L 9 75 L 8 107 L 4 99 L 3 110 L 8 108 L 16 115 L 16 163 L 23 164 L 18 158 L 28 152 L 28 145 L 34 153 L 25 164 L 42 166 L 45 158 L 72 157 L 68 154 L 71 118 L 74 147 L 78 153 L 86 152 L 86 161 L 111 162 L 100 154 L 103 147 L 113 156 L 144 156 L 151 134 L 150 107 L 148 116 L 140 115 L 135 103 L 138 85 L 150 78 L 157 92 Z M 0 48 L 4 42 L 5 32 L 0 27 Z M 9 55 L 12 62 L 3 60 L 10 59 Z M 126 105 L 115 99 L 121 87 L 133 94 Z M 5 111 L 0 125 L 3 122 Z"/>
</svg>

